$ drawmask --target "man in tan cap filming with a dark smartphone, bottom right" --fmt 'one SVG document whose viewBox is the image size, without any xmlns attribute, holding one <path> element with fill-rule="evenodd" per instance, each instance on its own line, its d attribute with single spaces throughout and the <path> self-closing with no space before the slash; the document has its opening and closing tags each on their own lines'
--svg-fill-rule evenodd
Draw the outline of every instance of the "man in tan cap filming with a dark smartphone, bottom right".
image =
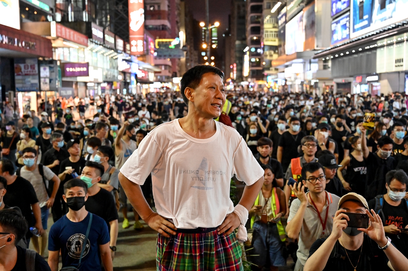
<svg viewBox="0 0 408 271">
<path fill-rule="evenodd" d="M 344 212 L 366 214 L 368 228 L 348 227 L 350 218 Z M 380 216 L 373 209 L 368 211 L 366 199 L 348 193 L 340 198 L 330 236 L 316 240 L 310 247 L 304 271 L 389 270 L 387 265 L 392 270 L 405 271 L 408 259 L 385 235 Z"/>
</svg>

